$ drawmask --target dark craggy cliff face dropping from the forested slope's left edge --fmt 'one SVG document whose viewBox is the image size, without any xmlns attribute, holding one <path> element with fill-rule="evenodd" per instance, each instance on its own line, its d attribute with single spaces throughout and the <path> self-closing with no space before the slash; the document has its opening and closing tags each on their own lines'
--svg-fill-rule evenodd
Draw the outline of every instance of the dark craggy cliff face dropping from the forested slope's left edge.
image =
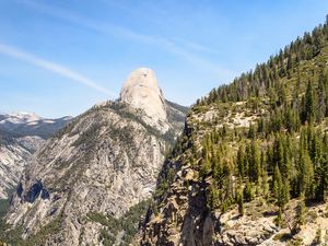
<svg viewBox="0 0 328 246">
<path fill-rule="evenodd" d="M 150 207 L 136 245 L 212 245 L 213 213 L 208 207 L 209 181 L 200 178 L 191 149 L 201 142 L 203 131 L 188 114 L 185 132 L 160 173 L 155 201 Z M 138 243 L 137 243 L 138 242 Z"/>
</svg>

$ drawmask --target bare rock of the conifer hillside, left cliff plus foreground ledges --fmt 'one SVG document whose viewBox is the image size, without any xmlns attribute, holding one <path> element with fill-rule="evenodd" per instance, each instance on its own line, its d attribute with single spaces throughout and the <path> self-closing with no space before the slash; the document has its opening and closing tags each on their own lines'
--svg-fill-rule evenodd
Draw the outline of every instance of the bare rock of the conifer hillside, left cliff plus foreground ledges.
<svg viewBox="0 0 328 246">
<path fill-rule="evenodd" d="M 243 104 L 235 105 L 234 109 L 245 110 L 241 105 Z M 327 202 L 314 203 L 307 209 L 304 225 L 294 232 L 295 235 L 291 233 L 290 227 L 295 223 L 297 199 L 292 199 L 285 206 L 283 218 L 286 224 L 283 226 L 277 225 L 277 204 L 268 202 L 261 196 L 249 202 L 245 201 L 243 215 L 237 204 L 229 206 L 225 210 L 210 208 L 213 180 L 210 175 L 203 177 L 203 152 L 200 147 L 208 132 L 223 129 L 223 125 L 218 127 L 215 117 L 208 117 L 208 113 L 211 112 L 213 116 L 225 115 L 224 120 L 233 122 L 233 117 L 237 116 L 229 110 L 222 105 L 199 106 L 190 110 L 186 118 L 184 136 L 159 175 L 155 199 L 133 245 L 283 246 L 297 242 L 303 242 L 300 245 L 326 245 Z M 192 152 L 198 154 L 195 156 Z M 230 192 L 235 191 L 232 188 Z M 321 244 L 315 243 L 319 241 L 318 237 Z"/>
</svg>

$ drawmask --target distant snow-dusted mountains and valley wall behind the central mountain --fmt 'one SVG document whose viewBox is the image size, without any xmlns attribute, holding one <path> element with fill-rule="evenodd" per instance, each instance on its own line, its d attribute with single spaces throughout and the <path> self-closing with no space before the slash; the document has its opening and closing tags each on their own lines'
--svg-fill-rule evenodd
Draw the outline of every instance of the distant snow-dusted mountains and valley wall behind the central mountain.
<svg viewBox="0 0 328 246">
<path fill-rule="evenodd" d="M 71 117 L 46 119 L 35 114 L 0 115 L 0 199 L 17 185 L 31 155 Z"/>
</svg>

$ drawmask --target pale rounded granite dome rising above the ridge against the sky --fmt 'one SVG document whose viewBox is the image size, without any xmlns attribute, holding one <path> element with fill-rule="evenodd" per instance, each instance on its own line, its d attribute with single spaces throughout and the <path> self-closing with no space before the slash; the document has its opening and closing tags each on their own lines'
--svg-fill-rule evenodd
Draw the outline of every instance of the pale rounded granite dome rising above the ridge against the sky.
<svg viewBox="0 0 328 246">
<path fill-rule="evenodd" d="M 143 110 L 143 120 L 150 126 L 167 131 L 165 99 L 153 70 L 139 68 L 132 71 L 122 85 L 119 101 Z"/>
</svg>

